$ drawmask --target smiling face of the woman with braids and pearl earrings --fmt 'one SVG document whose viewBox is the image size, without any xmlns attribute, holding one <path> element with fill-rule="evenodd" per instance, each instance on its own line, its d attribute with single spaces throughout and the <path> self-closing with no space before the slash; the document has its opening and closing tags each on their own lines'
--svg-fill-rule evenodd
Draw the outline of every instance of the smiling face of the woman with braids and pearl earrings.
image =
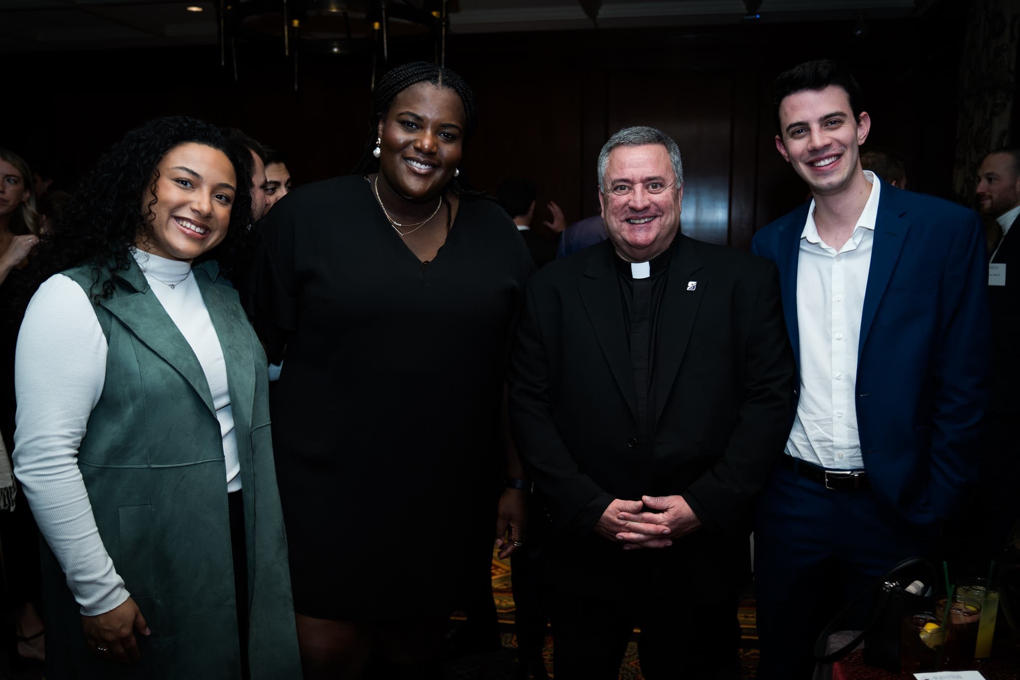
<svg viewBox="0 0 1020 680">
<path fill-rule="evenodd" d="M 398 195 L 432 200 L 460 164 L 464 104 L 456 90 L 418 83 L 398 94 L 379 120 L 379 174 Z"/>
</svg>

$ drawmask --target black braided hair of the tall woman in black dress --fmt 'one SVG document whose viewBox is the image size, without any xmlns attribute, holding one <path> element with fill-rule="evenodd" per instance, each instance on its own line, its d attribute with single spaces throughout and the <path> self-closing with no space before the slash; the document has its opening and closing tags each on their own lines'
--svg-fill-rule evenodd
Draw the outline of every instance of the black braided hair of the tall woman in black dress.
<svg viewBox="0 0 1020 680">
<path fill-rule="evenodd" d="M 413 61 L 387 71 L 375 87 L 375 91 L 372 93 L 371 118 L 368 121 L 368 133 L 365 136 L 365 148 L 361 152 L 358 164 L 354 167 L 353 174 L 369 174 L 378 171 L 379 161 L 372 155 L 372 150 L 375 149 L 375 138 L 378 137 L 379 118 L 385 118 L 390 112 L 390 105 L 393 104 L 397 95 L 418 83 L 431 83 L 438 88 L 449 88 L 457 93 L 464 105 L 464 145 L 467 145 L 478 124 L 477 109 L 474 106 L 474 95 L 471 93 L 471 88 L 460 75 L 449 68 L 427 61 Z M 447 189 L 461 198 L 492 198 L 484 192 L 471 189 L 460 177 L 451 179 Z"/>
</svg>

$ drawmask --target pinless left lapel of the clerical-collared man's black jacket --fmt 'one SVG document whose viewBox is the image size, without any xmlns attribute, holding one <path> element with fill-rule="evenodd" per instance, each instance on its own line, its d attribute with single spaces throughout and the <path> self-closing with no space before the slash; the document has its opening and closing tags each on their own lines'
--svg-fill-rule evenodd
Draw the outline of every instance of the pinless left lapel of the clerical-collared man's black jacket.
<svg viewBox="0 0 1020 680">
<path fill-rule="evenodd" d="M 634 399 L 633 374 L 630 372 L 630 353 L 623 327 L 623 302 L 620 300 L 620 284 L 616 280 L 613 266 L 613 245 L 606 241 L 589 249 L 590 257 L 584 277 L 580 281 L 580 298 L 584 311 L 592 322 L 595 336 L 599 341 L 609 370 L 616 379 L 620 393 L 630 407 L 630 413 L 638 417 Z"/>
</svg>

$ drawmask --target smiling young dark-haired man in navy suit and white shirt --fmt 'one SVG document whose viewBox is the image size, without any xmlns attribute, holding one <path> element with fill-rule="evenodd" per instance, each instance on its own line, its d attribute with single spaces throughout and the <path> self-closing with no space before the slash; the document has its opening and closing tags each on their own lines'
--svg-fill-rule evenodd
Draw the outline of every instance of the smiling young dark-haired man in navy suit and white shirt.
<svg viewBox="0 0 1020 680">
<path fill-rule="evenodd" d="M 939 553 L 970 500 L 987 260 L 974 212 L 862 170 L 871 119 L 840 64 L 782 73 L 773 103 L 776 149 L 813 199 L 752 246 L 779 268 L 800 378 L 755 522 L 759 677 L 800 680 L 826 621 L 900 560 Z"/>
</svg>

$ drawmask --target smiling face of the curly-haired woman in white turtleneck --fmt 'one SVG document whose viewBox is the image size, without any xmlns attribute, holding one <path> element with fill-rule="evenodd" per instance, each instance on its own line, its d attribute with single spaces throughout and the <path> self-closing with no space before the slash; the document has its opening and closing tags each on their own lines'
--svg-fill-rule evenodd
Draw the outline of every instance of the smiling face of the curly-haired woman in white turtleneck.
<svg viewBox="0 0 1020 680">
<path fill-rule="evenodd" d="M 234 165 L 222 151 L 188 142 L 167 151 L 156 169 L 151 231 L 139 234 L 136 246 L 190 262 L 226 237 L 237 182 Z M 146 192 L 143 213 L 152 198 Z"/>
</svg>

